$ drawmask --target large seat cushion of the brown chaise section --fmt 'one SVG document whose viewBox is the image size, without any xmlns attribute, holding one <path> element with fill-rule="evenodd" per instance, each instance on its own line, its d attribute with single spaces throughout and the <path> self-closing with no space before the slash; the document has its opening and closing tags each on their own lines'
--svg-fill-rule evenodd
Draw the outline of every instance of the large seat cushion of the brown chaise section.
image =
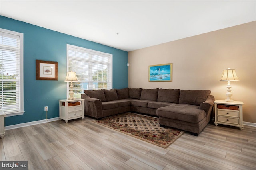
<svg viewBox="0 0 256 170">
<path fill-rule="evenodd" d="M 206 116 L 205 111 L 198 109 L 198 107 L 199 106 L 188 104 L 173 104 L 157 109 L 156 114 L 159 117 L 198 123 Z"/>
</svg>

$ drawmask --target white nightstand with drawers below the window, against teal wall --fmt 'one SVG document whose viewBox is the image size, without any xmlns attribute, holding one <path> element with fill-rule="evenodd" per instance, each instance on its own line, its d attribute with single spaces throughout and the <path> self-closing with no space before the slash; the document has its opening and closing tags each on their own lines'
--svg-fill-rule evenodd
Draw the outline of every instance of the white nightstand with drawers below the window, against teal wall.
<svg viewBox="0 0 256 170">
<path fill-rule="evenodd" d="M 60 99 L 60 119 L 68 123 L 69 120 L 82 118 L 84 119 L 84 99 Z"/>
</svg>

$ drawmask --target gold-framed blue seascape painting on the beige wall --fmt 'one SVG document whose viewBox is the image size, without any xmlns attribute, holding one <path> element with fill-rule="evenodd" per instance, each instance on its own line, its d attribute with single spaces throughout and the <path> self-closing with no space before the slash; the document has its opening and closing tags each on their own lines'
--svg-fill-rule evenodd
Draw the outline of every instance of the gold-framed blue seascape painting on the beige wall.
<svg viewBox="0 0 256 170">
<path fill-rule="evenodd" d="M 148 82 L 172 82 L 172 63 L 148 66 Z"/>
</svg>

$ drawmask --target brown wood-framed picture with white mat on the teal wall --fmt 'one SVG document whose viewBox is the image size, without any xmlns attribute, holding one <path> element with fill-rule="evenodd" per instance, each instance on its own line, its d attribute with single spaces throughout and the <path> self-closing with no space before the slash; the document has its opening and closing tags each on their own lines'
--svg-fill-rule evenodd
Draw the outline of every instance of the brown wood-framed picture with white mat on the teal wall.
<svg viewBox="0 0 256 170">
<path fill-rule="evenodd" d="M 58 62 L 36 60 L 36 80 L 58 80 Z"/>
</svg>

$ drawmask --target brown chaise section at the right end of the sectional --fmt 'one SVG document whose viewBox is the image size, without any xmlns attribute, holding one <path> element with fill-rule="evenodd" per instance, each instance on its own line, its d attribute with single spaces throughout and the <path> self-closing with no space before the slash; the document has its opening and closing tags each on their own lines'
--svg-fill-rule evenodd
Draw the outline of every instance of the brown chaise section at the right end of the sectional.
<svg viewBox="0 0 256 170">
<path fill-rule="evenodd" d="M 210 95 L 210 90 L 181 90 L 179 104 L 157 109 L 159 124 L 197 136 L 211 120 L 213 102 L 214 96 Z"/>
</svg>

